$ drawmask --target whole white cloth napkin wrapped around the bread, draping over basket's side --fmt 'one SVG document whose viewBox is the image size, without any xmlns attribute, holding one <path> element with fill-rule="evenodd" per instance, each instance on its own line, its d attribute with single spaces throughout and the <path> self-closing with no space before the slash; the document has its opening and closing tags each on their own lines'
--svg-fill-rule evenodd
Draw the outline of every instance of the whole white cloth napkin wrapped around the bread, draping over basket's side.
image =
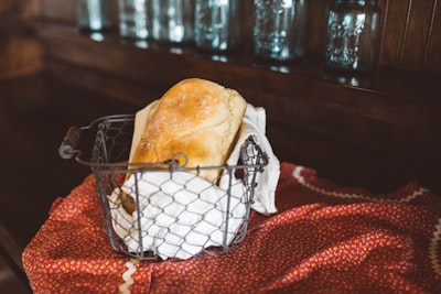
<svg viewBox="0 0 441 294">
<path fill-rule="evenodd" d="M 154 104 L 137 113 L 132 146 L 137 145 L 139 130 L 143 129 Z M 251 135 L 268 155 L 268 165 L 262 173 L 256 174 L 251 208 L 270 215 L 277 211 L 275 193 L 280 163 L 266 138 L 265 128 L 265 109 L 248 105 L 227 165 L 238 164 L 240 146 Z M 251 145 L 248 149 L 256 153 Z M 240 179 L 230 178 L 227 173 L 223 174 L 218 186 L 186 172 L 133 173 L 121 189 L 136 199 L 140 214 L 127 214 L 118 200 L 120 189 L 115 189 L 109 196 L 109 208 L 116 233 L 130 252 L 153 251 L 163 260 L 189 259 L 209 247 L 229 246 L 247 218 L 246 188 Z"/>
</svg>

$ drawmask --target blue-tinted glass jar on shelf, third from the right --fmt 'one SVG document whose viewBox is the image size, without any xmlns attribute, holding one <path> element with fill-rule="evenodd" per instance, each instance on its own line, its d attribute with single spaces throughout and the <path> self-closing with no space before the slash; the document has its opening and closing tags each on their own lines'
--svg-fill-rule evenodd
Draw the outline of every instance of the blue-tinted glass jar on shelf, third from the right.
<svg viewBox="0 0 441 294">
<path fill-rule="evenodd" d="M 239 9 L 239 0 L 196 0 L 196 46 L 208 51 L 236 48 L 240 37 Z"/>
</svg>

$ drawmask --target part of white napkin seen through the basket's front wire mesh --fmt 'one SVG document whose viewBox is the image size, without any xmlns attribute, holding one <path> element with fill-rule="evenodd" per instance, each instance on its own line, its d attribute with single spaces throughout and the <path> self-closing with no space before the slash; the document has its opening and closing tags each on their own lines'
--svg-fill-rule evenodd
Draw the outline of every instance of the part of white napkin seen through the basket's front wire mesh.
<svg viewBox="0 0 441 294">
<path fill-rule="evenodd" d="M 131 216 L 119 205 L 110 208 L 114 228 L 130 252 L 149 250 L 163 260 L 189 259 L 208 247 L 229 244 L 246 218 L 240 182 L 234 182 L 228 200 L 225 189 L 214 188 L 212 183 L 191 173 L 136 173 L 122 189 L 133 194 L 136 181 L 138 195 L 142 195 L 137 203 L 140 215 Z M 110 203 L 118 204 L 118 195 L 114 192 Z"/>
</svg>

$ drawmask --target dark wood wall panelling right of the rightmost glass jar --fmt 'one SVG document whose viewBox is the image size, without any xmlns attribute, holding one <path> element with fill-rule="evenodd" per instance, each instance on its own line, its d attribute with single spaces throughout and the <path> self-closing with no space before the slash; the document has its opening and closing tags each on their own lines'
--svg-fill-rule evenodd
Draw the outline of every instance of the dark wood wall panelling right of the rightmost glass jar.
<svg viewBox="0 0 441 294">
<path fill-rule="evenodd" d="M 379 0 L 383 17 L 380 66 L 405 70 L 441 70 L 438 57 L 441 46 L 438 2 Z"/>
</svg>

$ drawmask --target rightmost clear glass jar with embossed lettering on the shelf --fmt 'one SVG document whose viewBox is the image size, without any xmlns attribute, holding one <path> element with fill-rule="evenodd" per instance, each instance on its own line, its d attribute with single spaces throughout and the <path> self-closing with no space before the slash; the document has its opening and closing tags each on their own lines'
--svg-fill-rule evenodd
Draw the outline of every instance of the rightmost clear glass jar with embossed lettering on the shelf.
<svg viewBox="0 0 441 294">
<path fill-rule="evenodd" d="M 352 72 L 373 69 L 379 19 L 377 0 L 335 0 L 327 15 L 327 67 Z"/>
</svg>

